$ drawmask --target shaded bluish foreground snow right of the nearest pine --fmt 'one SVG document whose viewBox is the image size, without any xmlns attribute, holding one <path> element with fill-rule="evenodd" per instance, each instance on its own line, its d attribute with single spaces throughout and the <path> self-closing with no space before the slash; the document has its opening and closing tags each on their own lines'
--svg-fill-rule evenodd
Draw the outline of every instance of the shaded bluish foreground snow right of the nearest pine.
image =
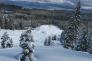
<svg viewBox="0 0 92 61">
<path fill-rule="evenodd" d="M 92 55 L 62 47 L 37 47 L 37 61 L 92 61 Z"/>
</svg>

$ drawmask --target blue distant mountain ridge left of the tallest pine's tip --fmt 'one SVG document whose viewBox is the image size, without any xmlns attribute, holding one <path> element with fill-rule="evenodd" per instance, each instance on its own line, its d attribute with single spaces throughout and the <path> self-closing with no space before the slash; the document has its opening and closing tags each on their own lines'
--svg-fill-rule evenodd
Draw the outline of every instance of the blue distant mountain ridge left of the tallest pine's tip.
<svg viewBox="0 0 92 61">
<path fill-rule="evenodd" d="M 55 4 L 55 3 L 39 3 L 39 2 L 27 2 L 27 1 L 7 1 L 4 3 L 9 5 L 18 5 L 30 9 L 31 8 L 53 9 L 53 10 L 73 9 L 73 5 L 70 5 L 69 3 Z"/>
</svg>

